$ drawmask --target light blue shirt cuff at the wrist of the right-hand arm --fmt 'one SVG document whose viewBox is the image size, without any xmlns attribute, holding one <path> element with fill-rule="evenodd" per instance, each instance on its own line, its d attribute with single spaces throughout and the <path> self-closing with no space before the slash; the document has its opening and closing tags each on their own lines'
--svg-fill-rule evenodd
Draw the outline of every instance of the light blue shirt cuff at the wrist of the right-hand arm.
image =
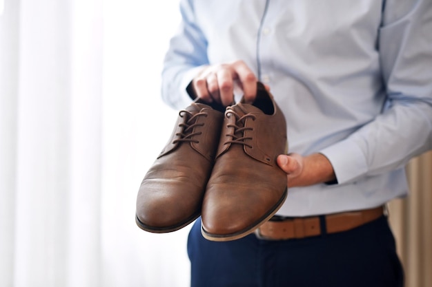
<svg viewBox="0 0 432 287">
<path fill-rule="evenodd" d="M 342 140 L 320 151 L 333 166 L 337 184 L 344 184 L 360 178 L 367 172 L 363 152 L 351 140 Z"/>
</svg>

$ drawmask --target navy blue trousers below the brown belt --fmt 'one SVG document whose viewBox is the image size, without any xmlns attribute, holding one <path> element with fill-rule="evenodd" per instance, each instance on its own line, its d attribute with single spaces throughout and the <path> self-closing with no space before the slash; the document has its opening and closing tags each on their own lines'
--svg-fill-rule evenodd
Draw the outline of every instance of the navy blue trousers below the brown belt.
<svg viewBox="0 0 432 287">
<path fill-rule="evenodd" d="M 188 237 L 192 287 L 402 287 L 404 273 L 386 217 L 351 231 L 301 240 L 230 242 Z"/>
</svg>

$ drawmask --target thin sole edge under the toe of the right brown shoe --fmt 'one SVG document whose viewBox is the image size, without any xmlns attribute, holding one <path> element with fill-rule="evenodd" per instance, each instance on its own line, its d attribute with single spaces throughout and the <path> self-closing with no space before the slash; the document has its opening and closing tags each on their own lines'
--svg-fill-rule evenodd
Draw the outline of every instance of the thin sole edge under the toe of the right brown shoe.
<svg viewBox="0 0 432 287">
<path fill-rule="evenodd" d="M 270 220 L 271 217 L 273 215 L 275 215 L 275 213 L 279 210 L 279 208 L 282 206 L 282 204 L 284 204 L 287 196 L 288 196 L 288 188 L 285 189 L 284 195 L 279 200 L 279 202 L 277 202 L 276 206 L 273 209 L 271 209 L 271 211 L 269 213 L 264 215 L 263 220 L 258 220 L 257 223 L 252 224 L 252 226 L 245 228 L 242 231 L 238 231 L 236 233 L 224 234 L 224 235 L 213 234 L 213 233 L 208 233 L 201 224 L 202 236 L 204 236 L 204 238 L 206 238 L 206 240 L 217 241 L 217 242 L 239 240 L 240 238 L 245 237 L 246 235 L 253 233 L 257 228 L 259 228 L 259 226 L 262 226 L 262 224 L 264 224 L 265 222 Z"/>
</svg>

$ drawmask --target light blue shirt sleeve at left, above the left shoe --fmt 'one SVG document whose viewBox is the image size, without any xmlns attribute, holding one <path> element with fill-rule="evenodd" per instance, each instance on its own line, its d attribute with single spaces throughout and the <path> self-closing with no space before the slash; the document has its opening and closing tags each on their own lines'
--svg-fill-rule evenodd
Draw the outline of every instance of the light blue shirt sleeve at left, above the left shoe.
<svg viewBox="0 0 432 287">
<path fill-rule="evenodd" d="M 190 105 L 186 87 L 202 66 L 208 65 L 207 41 L 197 25 L 193 0 L 181 0 L 180 12 L 181 23 L 170 39 L 161 77 L 162 99 L 175 109 Z"/>
</svg>

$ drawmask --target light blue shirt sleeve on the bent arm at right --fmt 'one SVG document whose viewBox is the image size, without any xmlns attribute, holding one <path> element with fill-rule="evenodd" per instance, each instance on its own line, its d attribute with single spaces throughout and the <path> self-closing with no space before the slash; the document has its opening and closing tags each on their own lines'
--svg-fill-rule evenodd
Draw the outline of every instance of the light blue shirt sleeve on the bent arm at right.
<svg viewBox="0 0 432 287">
<path fill-rule="evenodd" d="M 320 151 L 339 184 L 404 167 L 432 149 L 432 1 L 385 3 L 377 43 L 387 94 L 382 114 Z"/>
</svg>

